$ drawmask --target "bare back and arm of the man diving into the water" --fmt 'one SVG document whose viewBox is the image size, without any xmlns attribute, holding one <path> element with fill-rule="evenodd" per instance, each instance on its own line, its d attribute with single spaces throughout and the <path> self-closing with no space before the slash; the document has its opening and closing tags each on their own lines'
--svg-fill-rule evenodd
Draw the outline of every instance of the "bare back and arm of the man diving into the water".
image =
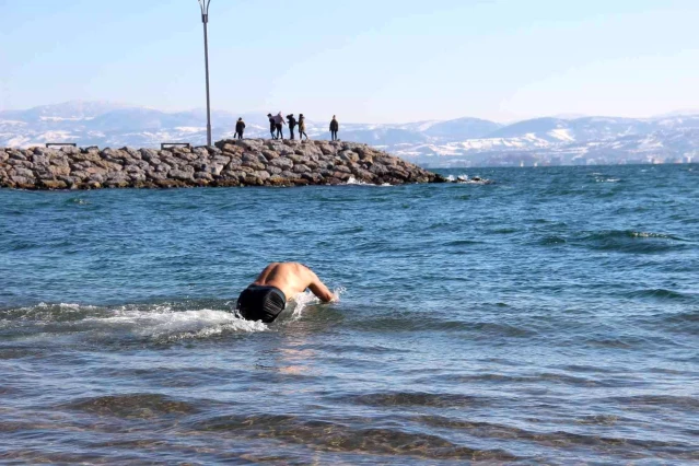
<svg viewBox="0 0 699 466">
<path fill-rule="evenodd" d="M 321 281 L 321 279 L 306 266 L 298 263 L 272 263 L 257 277 L 253 284 L 263 287 L 276 287 L 280 289 L 287 300 L 311 289 L 321 301 L 329 303 L 335 301 L 335 295 Z"/>
</svg>

